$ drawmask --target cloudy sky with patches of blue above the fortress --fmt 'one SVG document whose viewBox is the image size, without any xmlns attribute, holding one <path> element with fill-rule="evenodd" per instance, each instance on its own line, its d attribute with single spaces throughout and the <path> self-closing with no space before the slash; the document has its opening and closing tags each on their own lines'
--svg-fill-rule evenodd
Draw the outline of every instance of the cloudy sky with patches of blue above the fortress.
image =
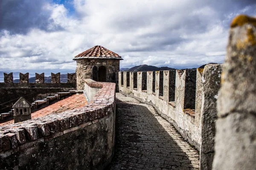
<svg viewBox="0 0 256 170">
<path fill-rule="evenodd" d="M 221 63 L 238 14 L 256 0 L 0 0 L 0 71 L 74 72 L 94 45 L 121 68 Z"/>
</svg>

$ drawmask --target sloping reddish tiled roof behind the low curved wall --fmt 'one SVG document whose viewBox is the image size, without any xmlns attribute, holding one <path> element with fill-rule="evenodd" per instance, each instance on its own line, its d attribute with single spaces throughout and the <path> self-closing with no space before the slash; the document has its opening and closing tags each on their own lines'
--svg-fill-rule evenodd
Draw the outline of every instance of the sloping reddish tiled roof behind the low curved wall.
<svg viewBox="0 0 256 170">
<path fill-rule="evenodd" d="M 42 108 L 38 111 L 31 113 L 31 118 L 35 119 L 35 118 L 43 117 L 52 113 L 61 113 L 68 110 L 82 108 L 87 104 L 88 103 L 84 94 L 79 94 L 79 95 L 73 94 L 72 96 L 67 97 L 66 99 L 60 100 L 52 105 L 49 105 L 45 108 Z M 7 122 L 0 123 L 0 126 L 10 125 L 13 123 L 14 123 L 14 120 L 10 120 Z"/>
</svg>

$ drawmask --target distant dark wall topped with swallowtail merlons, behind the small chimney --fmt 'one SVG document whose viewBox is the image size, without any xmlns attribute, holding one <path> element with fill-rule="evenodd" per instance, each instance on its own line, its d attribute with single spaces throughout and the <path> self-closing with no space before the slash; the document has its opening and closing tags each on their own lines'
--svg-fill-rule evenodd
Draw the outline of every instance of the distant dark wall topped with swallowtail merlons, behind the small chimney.
<svg viewBox="0 0 256 170">
<path fill-rule="evenodd" d="M 51 83 L 44 82 L 44 73 L 36 73 L 34 83 L 29 82 L 29 73 L 20 73 L 19 83 L 13 83 L 12 73 L 4 74 L 4 82 L 0 82 L 0 111 L 10 111 L 21 96 L 32 103 L 34 100 L 70 90 L 76 90 L 75 74 L 67 74 L 67 83 L 60 82 L 60 73 L 52 74 Z"/>
</svg>

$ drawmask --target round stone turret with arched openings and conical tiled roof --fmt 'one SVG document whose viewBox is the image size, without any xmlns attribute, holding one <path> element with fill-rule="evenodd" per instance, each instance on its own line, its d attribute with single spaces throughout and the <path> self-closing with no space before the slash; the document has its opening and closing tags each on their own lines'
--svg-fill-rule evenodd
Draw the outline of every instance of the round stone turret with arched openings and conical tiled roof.
<svg viewBox="0 0 256 170">
<path fill-rule="evenodd" d="M 115 72 L 119 71 L 122 57 L 100 45 L 96 45 L 80 54 L 76 60 L 76 88 L 84 89 L 84 79 L 98 82 L 115 82 Z"/>
</svg>

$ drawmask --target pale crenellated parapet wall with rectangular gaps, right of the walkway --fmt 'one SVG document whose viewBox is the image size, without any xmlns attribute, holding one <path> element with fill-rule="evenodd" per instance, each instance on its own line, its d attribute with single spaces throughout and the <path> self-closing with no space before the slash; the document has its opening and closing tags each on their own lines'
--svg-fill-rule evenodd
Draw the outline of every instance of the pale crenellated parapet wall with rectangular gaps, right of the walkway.
<svg viewBox="0 0 256 170">
<path fill-rule="evenodd" d="M 153 105 L 161 116 L 176 127 L 185 140 L 199 149 L 202 69 L 128 73 L 130 74 L 129 88 L 126 82 L 127 73 L 119 72 L 119 79 L 122 74 L 124 75 L 123 85 L 119 81 L 119 91 Z M 143 80 L 145 79 L 143 74 L 146 74 L 146 81 Z M 217 80 L 220 80 L 220 76 Z M 143 90 L 143 86 L 145 87 L 143 82 L 146 82 L 146 90 Z"/>
</svg>

